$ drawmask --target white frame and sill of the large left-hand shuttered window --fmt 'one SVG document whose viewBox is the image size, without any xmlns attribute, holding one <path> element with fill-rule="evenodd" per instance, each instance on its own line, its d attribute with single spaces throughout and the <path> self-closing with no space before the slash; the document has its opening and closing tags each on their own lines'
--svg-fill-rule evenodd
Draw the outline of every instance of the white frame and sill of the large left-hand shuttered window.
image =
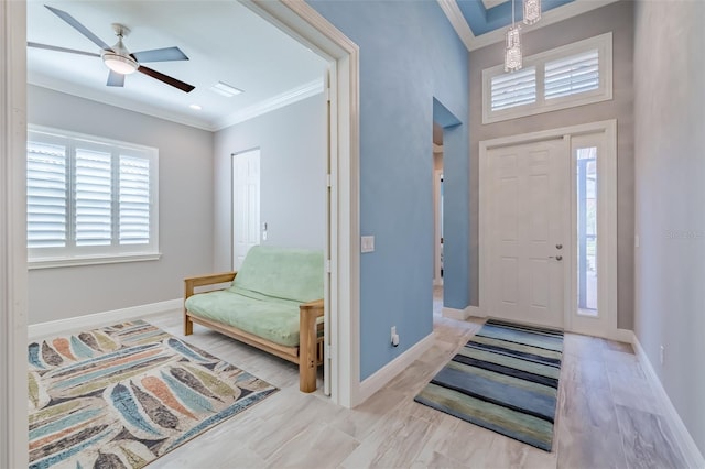
<svg viewBox="0 0 705 469">
<path fill-rule="evenodd" d="M 65 144 L 66 149 L 72 152 L 70 155 L 67 155 L 69 159 L 68 164 L 70 165 L 74 164 L 76 142 L 86 143 L 89 148 L 93 145 L 98 145 L 104 149 L 109 148 L 113 156 L 111 163 L 113 171 L 116 171 L 116 164 L 119 165 L 119 159 L 117 162 L 115 161 L 116 154 L 123 153 L 126 155 L 135 156 L 135 153 L 138 153 L 140 154 L 140 157 L 149 160 L 150 241 L 147 244 L 110 244 L 84 248 L 76 248 L 75 246 L 72 246 L 66 248 L 48 248 L 44 252 L 42 252 L 42 248 L 28 248 L 28 268 L 30 270 L 152 261 L 161 258 L 162 254 L 159 249 L 159 149 L 115 139 L 107 139 L 99 135 L 90 135 L 44 126 L 28 124 L 28 141 L 31 140 L 30 135 L 32 133 L 43 134 L 46 138 L 45 141 L 61 141 L 61 144 Z M 73 179 L 67 182 L 67 187 L 70 193 L 74 190 L 73 184 L 75 184 L 75 181 Z M 73 195 L 68 198 L 69 205 L 73 204 L 72 198 Z M 119 214 L 113 212 L 113 223 L 116 216 L 119 217 Z M 70 217 L 70 215 L 67 217 Z M 68 218 L 67 222 L 73 223 L 74 220 Z M 73 230 L 70 232 L 73 232 Z"/>
</svg>

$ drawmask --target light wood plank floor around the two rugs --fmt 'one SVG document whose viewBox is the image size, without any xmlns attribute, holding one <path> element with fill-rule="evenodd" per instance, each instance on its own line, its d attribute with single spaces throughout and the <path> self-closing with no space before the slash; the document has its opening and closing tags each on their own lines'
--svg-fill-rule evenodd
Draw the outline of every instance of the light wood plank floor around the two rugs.
<svg viewBox="0 0 705 469">
<path fill-rule="evenodd" d="M 195 326 L 186 340 L 280 392 L 149 468 L 683 468 L 630 346 L 566 335 L 553 452 L 413 402 L 481 326 L 441 316 L 433 347 L 355 410 L 299 392 L 296 366 Z M 147 320 L 181 336 L 181 312 Z"/>
</svg>

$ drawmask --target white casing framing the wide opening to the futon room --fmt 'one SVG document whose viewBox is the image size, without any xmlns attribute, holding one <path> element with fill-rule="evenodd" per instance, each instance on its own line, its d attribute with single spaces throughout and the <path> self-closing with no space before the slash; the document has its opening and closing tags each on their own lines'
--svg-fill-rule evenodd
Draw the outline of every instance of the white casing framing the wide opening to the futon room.
<svg viewBox="0 0 705 469">
<path fill-rule="evenodd" d="M 242 0 L 336 68 L 330 95 L 330 308 L 335 403 L 360 399 L 359 47 L 305 2 Z M 26 0 L 0 2 L 0 467 L 28 466 Z"/>
</svg>

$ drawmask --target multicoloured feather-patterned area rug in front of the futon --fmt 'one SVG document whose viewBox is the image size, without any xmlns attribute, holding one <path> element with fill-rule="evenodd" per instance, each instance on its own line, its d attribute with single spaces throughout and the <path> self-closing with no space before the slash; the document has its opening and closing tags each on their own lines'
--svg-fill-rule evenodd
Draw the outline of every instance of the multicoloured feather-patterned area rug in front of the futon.
<svg viewBox="0 0 705 469">
<path fill-rule="evenodd" d="M 278 391 L 142 320 L 28 357 L 31 468 L 141 468 Z"/>
</svg>

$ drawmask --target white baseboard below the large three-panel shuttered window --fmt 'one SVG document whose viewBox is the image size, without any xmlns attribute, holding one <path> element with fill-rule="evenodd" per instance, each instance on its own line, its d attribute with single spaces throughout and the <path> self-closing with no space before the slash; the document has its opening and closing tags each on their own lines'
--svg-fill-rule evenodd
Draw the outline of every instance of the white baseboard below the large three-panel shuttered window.
<svg viewBox="0 0 705 469">
<path fill-rule="evenodd" d="M 51 320 L 48 323 L 31 324 L 28 327 L 28 337 L 36 339 L 74 330 L 85 330 L 118 324 L 121 321 L 143 318 L 149 315 L 164 313 L 170 309 L 180 309 L 184 305 L 183 298 L 167 299 L 165 302 L 150 303 L 129 308 L 113 309 L 111 312 L 89 314 L 86 316 L 69 317 L 67 319 Z"/>
</svg>

